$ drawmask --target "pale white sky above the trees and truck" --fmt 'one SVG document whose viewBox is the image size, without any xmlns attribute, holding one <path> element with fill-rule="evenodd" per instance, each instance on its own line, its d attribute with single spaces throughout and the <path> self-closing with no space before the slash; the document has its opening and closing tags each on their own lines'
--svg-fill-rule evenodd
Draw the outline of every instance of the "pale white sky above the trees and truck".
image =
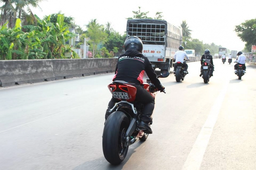
<svg viewBox="0 0 256 170">
<path fill-rule="evenodd" d="M 162 12 L 162 19 L 172 25 L 180 26 L 186 21 L 194 39 L 236 51 L 242 51 L 245 42 L 237 36 L 235 26 L 256 18 L 255 0 L 43 0 L 39 7 L 31 10 L 41 19 L 61 11 L 66 17 L 73 17 L 83 30 L 96 19 L 102 25 L 110 22 L 113 30 L 122 35 L 126 31 L 126 18 L 133 17 L 133 11 L 141 7 L 141 12 L 149 12 L 147 16 L 152 18 L 156 12 Z"/>
</svg>

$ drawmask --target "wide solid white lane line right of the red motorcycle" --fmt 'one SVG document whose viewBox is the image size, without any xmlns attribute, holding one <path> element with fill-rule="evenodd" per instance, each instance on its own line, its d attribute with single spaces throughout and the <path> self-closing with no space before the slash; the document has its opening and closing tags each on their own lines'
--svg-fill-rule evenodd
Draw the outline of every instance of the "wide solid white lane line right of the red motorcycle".
<svg viewBox="0 0 256 170">
<path fill-rule="evenodd" d="M 224 97 L 227 93 L 227 85 L 224 86 L 219 96 L 217 97 L 208 118 L 206 119 L 205 124 L 203 125 L 201 132 L 196 138 L 196 142 L 193 145 L 183 167 L 182 170 L 199 170 L 203 156 L 208 145 L 209 139 L 212 135 L 212 130 L 217 121 L 218 114 L 220 112 L 220 108 L 222 106 L 222 102 L 224 101 Z"/>
</svg>

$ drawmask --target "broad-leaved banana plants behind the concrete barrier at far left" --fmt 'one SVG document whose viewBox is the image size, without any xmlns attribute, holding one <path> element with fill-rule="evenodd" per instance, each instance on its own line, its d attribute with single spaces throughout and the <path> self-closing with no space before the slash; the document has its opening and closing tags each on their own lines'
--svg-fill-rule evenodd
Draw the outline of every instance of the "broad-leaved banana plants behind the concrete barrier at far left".
<svg viewBox="0 0 256 170">
<path fill-rule="evenodd" d="M 15 27 L 7 28 L 7 23 L 0 27 L 0 59 L 47 59 L 63 58 L 62 47 L 65 42 L 76 35 L 70 33 L 63 16 L 57 17 L 57 23 L 37 18 L 38 26 L 21 27 L 17 19 Z M 21 31 L 25 29 L 27 32 Z"/>
</svg>

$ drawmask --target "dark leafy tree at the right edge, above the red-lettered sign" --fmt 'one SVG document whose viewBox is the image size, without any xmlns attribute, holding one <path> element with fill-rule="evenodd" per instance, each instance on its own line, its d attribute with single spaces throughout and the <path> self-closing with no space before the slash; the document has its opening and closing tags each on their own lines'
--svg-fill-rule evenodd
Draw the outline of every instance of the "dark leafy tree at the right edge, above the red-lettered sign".
<svg viewBox="0 0 256 170">
<path fill-rule="evenodd" d="M 251 51 L 252 45 L 256 45 L 256 18 L 246 20 L 240 25 L 236 25 L 235 32 L 237 32 L 237 36 L 240 37 L 243 42 L 246 42 L 246 50 Z"/>
</svg>

